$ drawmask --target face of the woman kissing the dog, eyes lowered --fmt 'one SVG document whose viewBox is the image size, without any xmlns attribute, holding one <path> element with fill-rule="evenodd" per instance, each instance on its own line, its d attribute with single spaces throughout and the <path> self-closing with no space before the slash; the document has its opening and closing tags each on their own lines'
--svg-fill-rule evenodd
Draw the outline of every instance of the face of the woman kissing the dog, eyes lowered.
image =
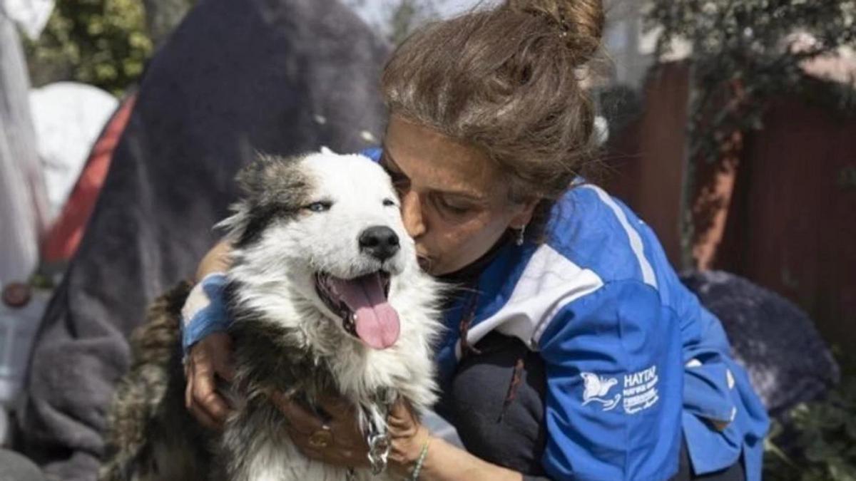
<svg viewBox="0 0 856 481">
<path fill-rule="evenodd" d="M 419 264 L 441 276 L 490 250 L 509 227 L 529 222 L 536 204 L 508 200 L 508 182 L 481 151 L 391 116 L 381 165 L 401 196 L 401 217 Z"/>
</svg>

